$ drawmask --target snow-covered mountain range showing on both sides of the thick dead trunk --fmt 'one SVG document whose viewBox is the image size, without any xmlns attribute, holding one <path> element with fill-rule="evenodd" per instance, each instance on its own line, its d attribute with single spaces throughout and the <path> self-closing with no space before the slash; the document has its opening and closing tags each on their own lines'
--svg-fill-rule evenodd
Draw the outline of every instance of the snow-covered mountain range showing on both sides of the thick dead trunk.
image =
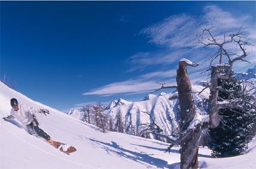
<svg viewBox="0 0 256 169">
<path fill-rule="evenodd" d="M 192 90 L 194 92 L 201 91 L 204 88 L 202 85 L 193 85 Z M 156 123 L 163 133 L 166 135 L 175 134 L 178 132 L 178 120 L 179 120 L 179 105 L 178 99 L 170 99 L 176 96 L 178 93 L 160 93 L 158 96 L 149 94 L 143 101 L 140 102 L 128 102 L 123 99 L 123 104 L 117 104 L 116 100 L 111 102 L 107 106 L 105 113 L 107 116 L 111 116 L 114 122 L 117 122 L 117 117 L 120 114 L 123 118 L 123 125 L 126 134 L 142 135 L 145 125 Z M 204 100 L 209 96 L 209 90 L 205 90 L 201 95 L 194 94 L 194 99 L 198 110 L 205 114 Z M 151 117 L 154 121 L 151 119 Z M 152 134 L 143 135 L 146 138 L 156 138 Z"/>
</svg>

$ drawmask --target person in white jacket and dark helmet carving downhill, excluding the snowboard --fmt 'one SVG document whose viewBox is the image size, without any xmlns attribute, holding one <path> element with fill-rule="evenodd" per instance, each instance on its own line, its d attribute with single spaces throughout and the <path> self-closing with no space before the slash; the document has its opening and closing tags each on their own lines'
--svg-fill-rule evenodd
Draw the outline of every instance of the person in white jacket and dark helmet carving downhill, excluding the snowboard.
<svg viewBox="0 0 256 169">
<path fill-rule="evenodd" d="M 46 134 L 43 129 L 39 128 L 39 123 L 35 115 L 36 113 L 46 115 L 49 114 L 49 111 L 47 109 L 34 108 L 33 106 L 29 107 L 25 104 L 19 103 L 15 98 L 12 98 L 10 102 L 12 107 L 11 113 L 8 117 L 3 117 L 3 119 L 8 121 L 12 118 L 16 118 L 20 123 L 27 127 L 29 134 L 33 135 L 36 132 L 39 137 L 45 138 L 45 140 L 52 144 L 51 137 Z"/>
</svg>

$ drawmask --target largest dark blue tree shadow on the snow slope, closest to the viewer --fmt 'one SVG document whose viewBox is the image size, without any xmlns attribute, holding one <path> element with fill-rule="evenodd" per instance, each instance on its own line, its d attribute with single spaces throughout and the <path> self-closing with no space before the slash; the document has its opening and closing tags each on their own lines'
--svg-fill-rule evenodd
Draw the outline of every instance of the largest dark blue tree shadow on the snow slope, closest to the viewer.
<svg viewBox="0 0 256 169">
<path fill-rule="evenodd" d="M 116 153 L 121 157 L 131 159 L 143 165 L 145 165 L 143 163 L 145 162 L 146 164 L 148 164 L 147 166 L 149 168 L 152 166 L 155 166 L 158 168 L 167 167 L 167 161 L 164 161 L 163 159 L 154 158 L 146 153 L 138 153 L 128 149 L 124 149 L 123 147 L 120 147 L 118 144 L 116 144 L 114 141 L 111 141 L 111 143 L 105 143 L 99 140 L 94 140 L 92 138 L 87 138 L 87 139 L 92 141 L 93 143 L 97 143 L 99 146 L 105 149 L 107 153 L 110 153 L 110 152 Z"/>
</svg>

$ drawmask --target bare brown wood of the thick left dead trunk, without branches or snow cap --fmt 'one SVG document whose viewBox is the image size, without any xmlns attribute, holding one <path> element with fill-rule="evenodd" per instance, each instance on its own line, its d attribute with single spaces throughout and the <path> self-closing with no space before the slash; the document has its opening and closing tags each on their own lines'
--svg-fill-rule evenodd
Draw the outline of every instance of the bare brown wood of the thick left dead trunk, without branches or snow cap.
<svg viewBox="0 0 256 169">
<path fill-rule="evenodd" d="M 180 101 L 181 133 L 187 130 L 190 122 L 196 115 L 195 102 L 192 94 L 192 85 L 187 75 L 187 63 L 180 61 L 177 70 L 176 82 Z M 187 130 L 188 131 L 188 130 Z M 200 126 L 196 126 L 189 136 L 181 141 L 181 168 L 198 168 L 198 144 L 201 133 Z"/>
</svg>

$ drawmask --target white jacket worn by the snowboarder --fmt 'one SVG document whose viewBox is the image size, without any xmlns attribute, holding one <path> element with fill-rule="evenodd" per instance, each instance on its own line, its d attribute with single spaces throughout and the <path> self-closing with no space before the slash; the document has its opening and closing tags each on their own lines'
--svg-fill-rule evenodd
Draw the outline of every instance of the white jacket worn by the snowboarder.
<svg viewBox="0 0 256 169">
<path fill-rule="evenodd" d="M 34 120 L 33 115 L 35 113 L 40 113 L 40 108 L 34 108 L 33 106 L 28 106 L 23 103 L 19 103 L 18 106 L 18 111 L 11 108 L 11 115 L 19 120 L 23 125 L 30 124 Z"/>
</svg>

